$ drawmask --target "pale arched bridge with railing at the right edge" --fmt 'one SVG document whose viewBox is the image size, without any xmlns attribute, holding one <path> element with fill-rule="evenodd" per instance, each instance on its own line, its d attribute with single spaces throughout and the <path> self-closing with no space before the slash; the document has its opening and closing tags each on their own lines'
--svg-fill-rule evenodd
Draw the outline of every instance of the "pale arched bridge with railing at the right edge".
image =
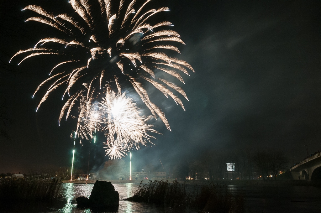
<svg viewBox="0 0 321 213">
<path fill-rule="evenodd" d="M 321 151 L 291 167 L 294 180 L 321 180 Z"/>
</svg>

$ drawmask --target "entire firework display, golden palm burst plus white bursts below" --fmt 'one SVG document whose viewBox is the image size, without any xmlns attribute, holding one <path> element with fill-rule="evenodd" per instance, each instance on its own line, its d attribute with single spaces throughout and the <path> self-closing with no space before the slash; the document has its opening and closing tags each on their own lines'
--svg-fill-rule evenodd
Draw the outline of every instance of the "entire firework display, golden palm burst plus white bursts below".
<svg viewBox="0 0 321 213">
<path fill-rule="evenodd" d="M 154 137 L 150 133 L 157 133 L 148 124 L 151 116 L 139 115 L 134 101 L 121 93 L 128 89 L 125 86 L 131 85 L 152 116 L 155 119 L 160 117 L 170 130 L 165 114 L 151 101 L 144 87 L 152 84 L 184 109 L 179 97 L 187 99 L 184 90 L 163 78 L 173 76 L 185 84 L 181 74 L 189 75 L 187 70 L 194 72 L 190 64 L 174 57 L 180 53 L 175 44 L 185 43 L 172 30 L 172 23 L 154 23 L 155 19 L 151 21 L 153 24 L 150 22 L 152 17 L 169 11 L 169 8 L 148 9 L 152 5 L 149 2 L 151 0 L 138 5 L 136 0 L 92 0 L 90 3 L 70 0 L 75 13 L 58 15 L 40 6 L 29 5 L 23 10 L 30 10 L 39 16 L 26 21 L 47 24 L 65 33 L 65 37 L 40 39 L 34 47 L 20 50 L 10 59 L 19 57 L 22 63 L 40 55 L 57 57 L 60 61 L 49 73 L 53 75 L 35 91 L 36 94 L 49 84 L 37 110 L 50 92 L 65 87 L 62 99 L 65 94 L 69 98 L 61 110 L 59 125 L 65 115 L 67 119 L 75 113 L 74 106 L 79 106 L 77 134 L 82 139 L 94 138 L 96 141 L 95 132 L 105 132 L 106 154 L 111 158 L 124 157 L 127 150 L 151 143 Z"/>
</svg>

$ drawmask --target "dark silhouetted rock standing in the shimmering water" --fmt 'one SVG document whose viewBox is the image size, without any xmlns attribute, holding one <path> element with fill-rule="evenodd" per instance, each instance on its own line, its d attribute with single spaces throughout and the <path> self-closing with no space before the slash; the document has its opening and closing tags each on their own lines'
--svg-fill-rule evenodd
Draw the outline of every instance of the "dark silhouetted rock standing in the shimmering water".
<svg viewBox="0 0 321 213">
<path fill-rule="evenodd" d="M 110 182 L 96 181 L 89 199 L 86 197 L 78 197 L 76 201 L 79 208 L 114 208 L 119 206 L 119 194 Z"/>
</svg>

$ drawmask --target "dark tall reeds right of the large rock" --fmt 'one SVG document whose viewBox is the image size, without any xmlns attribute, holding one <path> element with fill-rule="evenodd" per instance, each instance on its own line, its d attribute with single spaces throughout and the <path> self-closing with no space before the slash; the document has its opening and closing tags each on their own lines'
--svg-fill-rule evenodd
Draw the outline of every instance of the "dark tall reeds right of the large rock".
<svg viewBox="0 0 321 213">
<path fill-rule="evenodd" d="M 149 202 L 172 208 L 191 208 L 210 213 L 241 213 L 245 211 L 244 198 L 232 195 L 226 186 L 203 184 L 189 186 L 174 181 L 140 183 L 129 201 Z"/>
</svg>

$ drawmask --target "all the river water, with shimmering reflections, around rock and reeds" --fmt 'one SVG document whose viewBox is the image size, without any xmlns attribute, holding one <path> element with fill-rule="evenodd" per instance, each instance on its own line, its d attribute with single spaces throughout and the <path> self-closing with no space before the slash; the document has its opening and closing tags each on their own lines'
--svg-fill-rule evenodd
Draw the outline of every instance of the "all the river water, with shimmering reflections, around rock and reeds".
<svg viewBox="0 0 321 213">
<path fill-rule="evenodd" d="M 131 197 L 138 186 L 134 183 L 114 183 L 120 198 Z M 93 184 L 63 183 L 64 199 L 56 203 L 42 203 L 29 205 L 17 203 L 14 206 L 4 206 L 0 212 L 30 212 L 30 213 L 92 213 L 90 209 L 77 209 L 76 198 L 89 197 Z M 229 185 L 231 193 L 241 193 L 245 198 L 247 212 L 309 212 L 321 213 L 321 188 L 314 186 L 239 186 Z M 176 209 L 177 210 L 177 209 Z M 119 209 L 109 212 L 115 213 L 162 213 L 174 212 L 152 204 L 119 201 Z M 186 211 L 185 211 L 186 212 Z M 187 211 L 194 212 L 194 211 Z M 196 212 L 195 212 L 196 213 Z"/>
</svg>

